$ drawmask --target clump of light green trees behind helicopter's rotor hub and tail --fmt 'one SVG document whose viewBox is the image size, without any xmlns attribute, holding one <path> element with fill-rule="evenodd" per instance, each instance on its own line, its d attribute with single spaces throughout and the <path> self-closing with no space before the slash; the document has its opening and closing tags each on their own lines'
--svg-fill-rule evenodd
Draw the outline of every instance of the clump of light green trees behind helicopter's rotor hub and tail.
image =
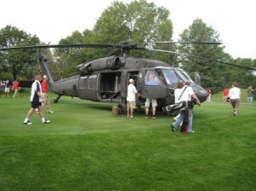
<svg viewBox="0 0 256 191">
<path fill-rule="evenodd" d="M 108 9 L 102 12 L 96 21 L 93 30 L 85 30 L 83 33 L 73 32 L 67 38 L 63 38 L 60 44 L 66 43 L 145 43 L 148 41 L 170 41 L 172 39 L 172 21 L 168 19 L 169 11 L 163 7 L 157 7 L 154 3 L 145 0 L 131 3 L 113 2 Z M 160 45 L 163 47 L 164 45 Z M 173 50 L 173 45 L 166 45 Z M 78 64 L 95 60 L 108 55 L 121 55 L 115 49 L 58 49 L 55 56 L 59 58 L 58 66 L 67 65 L 73 69 L 61 75 L 72 76 L 77 72 Z M 162 61 L 171 61 L 173 55 L 137 51 L 132 56 L 144 57 Z M 63 57 L 62 57 L 63 56 Z M 67 77 L 66 76 L 66 77 Z M 65 76 L 63 76 L 64 78 Z"/>
</svg>

